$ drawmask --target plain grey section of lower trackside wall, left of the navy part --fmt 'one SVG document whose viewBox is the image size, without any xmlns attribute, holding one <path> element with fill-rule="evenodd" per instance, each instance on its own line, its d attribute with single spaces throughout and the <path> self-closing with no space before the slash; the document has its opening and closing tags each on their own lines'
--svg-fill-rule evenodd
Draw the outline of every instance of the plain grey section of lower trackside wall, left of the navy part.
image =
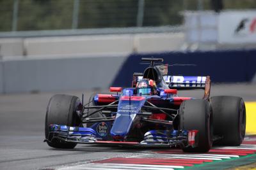
<svg viewBox="0 0 256 170">
<path fill-rule="evenodd" d="M 0 76 L 2 92 L 106 89 L 126 58 L 106 56 L 4 60 L 4 71 L 1 71 L 4 78 L 1 80 Z"/>
</svg>

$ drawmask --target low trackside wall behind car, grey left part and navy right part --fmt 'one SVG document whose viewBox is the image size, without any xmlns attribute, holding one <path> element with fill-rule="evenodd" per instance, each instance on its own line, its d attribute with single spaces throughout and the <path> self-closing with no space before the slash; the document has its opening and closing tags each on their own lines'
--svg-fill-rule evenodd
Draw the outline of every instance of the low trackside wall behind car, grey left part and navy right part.
<svg viewBox="0 0 256 170">
<path fill-rule="evenodd" d="M 256 78 L 255 56 L 256 50 L 243 50 L 6 58 L 0 65 L 0 90 L 9 93 L 130 87 L 132 74 L 143 73 L 147 67 L 140 64 L 141 57 L 163 58 L 168 64 L 196 64 L 170 66 L 170 75 L 210 75 L 214 83 L 249 83 Z"/>
</svg>

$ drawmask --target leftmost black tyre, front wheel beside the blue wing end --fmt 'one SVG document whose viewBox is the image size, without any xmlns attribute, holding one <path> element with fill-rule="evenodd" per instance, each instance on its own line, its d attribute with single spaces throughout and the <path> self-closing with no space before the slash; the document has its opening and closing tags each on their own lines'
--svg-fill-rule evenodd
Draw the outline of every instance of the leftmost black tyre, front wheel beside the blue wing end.
<svg viewBox="0 0 256 170">
<path fill-rule="evenodd" d="M 76 146 L 76 143 L 52 139 L 49 134 L 49 125 L 80 126 L 81 121 L 76 113 L 79 104 L 81 102 L 76 96 L 56 94 L 51 97 L 45 116 L 45 138 L 48 139 L 47 144 L 52 148 L 72 149 Z"/>
</svg>

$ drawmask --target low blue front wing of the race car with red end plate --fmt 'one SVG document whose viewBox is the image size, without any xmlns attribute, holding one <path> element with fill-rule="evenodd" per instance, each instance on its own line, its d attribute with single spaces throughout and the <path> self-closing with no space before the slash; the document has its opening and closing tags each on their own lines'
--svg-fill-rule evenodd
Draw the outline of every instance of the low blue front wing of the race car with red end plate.
<svg viewBox="0 0 256 170">
<path fill-rule="evenodd" d="M 101 144 L 117 146 L 153 146 L 153 147 L 196 147 L 198 131 L 148 131 L 143 141 L 105 141 L 97 139 L 96 132 L 88 127 L 70 127 L 67 125 L 50 125 L 49 136 L 45 141 L 59 140 L 68 143 Z"/>
</svg>

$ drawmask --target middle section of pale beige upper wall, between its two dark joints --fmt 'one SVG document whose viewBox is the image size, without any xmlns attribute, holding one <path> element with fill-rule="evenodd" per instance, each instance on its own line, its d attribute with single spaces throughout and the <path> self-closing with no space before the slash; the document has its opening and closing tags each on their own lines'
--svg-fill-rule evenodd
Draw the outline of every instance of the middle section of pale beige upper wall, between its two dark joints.
<svg viewBox="0 0 256 170">
<path fill-rule="evenodd" d="M 100 53 L 131 53 L 133 39 L 130 35 L 81 36 L 56 38 L 26 38 L 27 55 L 77 55 Z"/>
</svg>

